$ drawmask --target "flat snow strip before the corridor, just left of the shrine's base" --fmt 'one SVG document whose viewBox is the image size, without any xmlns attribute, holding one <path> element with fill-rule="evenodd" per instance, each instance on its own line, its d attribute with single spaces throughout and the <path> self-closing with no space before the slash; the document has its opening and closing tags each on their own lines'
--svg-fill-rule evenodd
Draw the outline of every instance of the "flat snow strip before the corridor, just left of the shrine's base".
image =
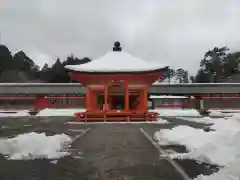
<svg viewBox="0 0 240 180">
<path fill-rule="evenodd" d="M 85 109 L 43 109 L 36 116 L 74 116 L 77 112 L 84 112 Z"/>
</svg>

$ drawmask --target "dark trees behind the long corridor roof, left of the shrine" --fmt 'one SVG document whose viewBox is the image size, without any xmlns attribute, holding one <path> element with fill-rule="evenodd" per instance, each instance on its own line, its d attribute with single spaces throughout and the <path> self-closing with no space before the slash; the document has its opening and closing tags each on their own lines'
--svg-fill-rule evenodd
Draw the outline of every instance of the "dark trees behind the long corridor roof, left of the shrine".
<svg viewBox="0 0 240 180">
<path fill-rule="evenodd" d="M 59 58 L 56 59 L 52 66 L 47 63 L 40 68 L 35 64 L 34 60 L 28 57 L 24 51 L 19 51 L 12 55 L 9 49 L 0 45 L 0 81 L 4 79 L 5 82 L 8 79 L 17 81 L 19 74 L 6 73 L 6 72 L 23 72 L 24 78 L 28 80 L 38 80 L 40 82 L 51 82 L 51 83 L 64 83 L 70 82 L 70 76 L 68 71 L 64 68 L 66 65 L 84 64 L 90 62 L 91 59 L 88 57 L 78 58 L 73 54 L 69 55 L 66 59 L 61 61 Z M 17 76 L 17 77 L 1 77 L 1 76 Z"/>
</svg>

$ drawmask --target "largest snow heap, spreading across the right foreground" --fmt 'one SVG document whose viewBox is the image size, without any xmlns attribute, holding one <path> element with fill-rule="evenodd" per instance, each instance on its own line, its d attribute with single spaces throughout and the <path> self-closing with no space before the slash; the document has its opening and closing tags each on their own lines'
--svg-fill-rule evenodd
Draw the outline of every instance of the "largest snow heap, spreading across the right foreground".
<svg viewBox="0 0 240 180">
<path fill-rule="evenodd" d="M 189 126 L 178 126 L 171 130 L 160 130 L 155 133 L 154 138 L 161 145 L 180 144 L 189 151 L 171 154 L 171 158 L 195 159 L 224 166 L 218 173 L 199 176 L 198 180 L 230 180 L 229 177 L 239 179 L 240 114 L 215 119 L 211 129 L 214 131 L 205 132 Z"/>
</svg>

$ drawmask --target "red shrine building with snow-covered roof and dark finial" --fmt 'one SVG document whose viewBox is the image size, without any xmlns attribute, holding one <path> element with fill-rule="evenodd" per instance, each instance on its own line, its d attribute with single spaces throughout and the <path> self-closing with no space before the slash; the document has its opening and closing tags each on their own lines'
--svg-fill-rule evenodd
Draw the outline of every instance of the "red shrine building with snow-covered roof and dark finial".
<svg viewBox="0 0 240 180">
<path fill-rule="evenodd" d="M 148 112 L 148 90 L 167 65 L 145 62 L 115 42 L 103 57 L 65 67 L 86 88 L 86 111 L 75 114 L 78 120 L 157 120 L 157 113 Z"/>
</svg>

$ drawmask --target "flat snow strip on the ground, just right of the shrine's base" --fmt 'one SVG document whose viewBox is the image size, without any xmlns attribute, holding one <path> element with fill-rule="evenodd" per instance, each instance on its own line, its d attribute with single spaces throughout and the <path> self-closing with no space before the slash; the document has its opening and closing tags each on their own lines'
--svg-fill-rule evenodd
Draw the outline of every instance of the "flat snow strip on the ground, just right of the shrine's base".
<svg viewBox="0 0 240 180">
<path fill-rule="evenodd" d="M 160 116 L 176 117 L 176 116 L 194 116 L 200 117 L 201 115 L 196 109 L 181 109 L 181 108 L 160 108 L 149 110 L 150 112 L 157 112 Z"/>
</svg>

